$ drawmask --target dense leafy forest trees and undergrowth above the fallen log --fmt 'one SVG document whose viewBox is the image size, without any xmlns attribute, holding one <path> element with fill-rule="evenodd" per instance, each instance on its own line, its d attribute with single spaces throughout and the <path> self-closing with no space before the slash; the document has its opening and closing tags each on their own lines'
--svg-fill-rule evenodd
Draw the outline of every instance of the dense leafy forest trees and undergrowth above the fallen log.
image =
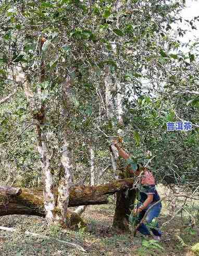
<svg viewBox="0 0 199 256">
<path fill-rule="evenodd" d="M 51 185 L 113 182 L 117 138 L 132 166 L 198 195 L 199 16 L 183 19 L 186 1 L 0 3 L 2 185 L 45 187 L 49 206 Z M 178 121 L 192 130 L 168 132 Z"/>
</svg>

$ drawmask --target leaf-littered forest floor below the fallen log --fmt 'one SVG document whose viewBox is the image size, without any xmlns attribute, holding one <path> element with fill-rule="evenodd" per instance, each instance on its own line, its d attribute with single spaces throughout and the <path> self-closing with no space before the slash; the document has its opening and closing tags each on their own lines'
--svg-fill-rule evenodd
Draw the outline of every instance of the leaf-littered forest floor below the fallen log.
<svg viewBox="0 0 199 256">
<path fill-rule="evenodd" d="M 44 218 L 13 215 L 0 217 L 0 225 L 16 228 L 16 232 L 0 230 L 0 256 L 32 256 L 32 255 L 196 255 L 190 246 L 199 242 L 199 227 L 184 228 L 188 219 L 175 216 L 170 223 L 164 226 L 161 242 L 153 243 L 151 239 L 133 237 L 131 234 L 116 235 L 111 232 L 114 216 L 114 205 L 88 206 L 82 217 L 89 226 L 89 231 L 84 228 L 63 230 L 53 226 L 49 228 Z M 171 219 L 171 215 L 164 208 L 159 218 L 159 224 Z M 197 223 L 198 224 L 198 223 Z M 36 232 L 48 236 L 49 240 L 25 235 L 24 231 Z M 179 237 L 177 237 L 177 235 Z M 61 239 L 78 243 L 87 252 L 69 248 L 54 239 Z"/>
</svg>

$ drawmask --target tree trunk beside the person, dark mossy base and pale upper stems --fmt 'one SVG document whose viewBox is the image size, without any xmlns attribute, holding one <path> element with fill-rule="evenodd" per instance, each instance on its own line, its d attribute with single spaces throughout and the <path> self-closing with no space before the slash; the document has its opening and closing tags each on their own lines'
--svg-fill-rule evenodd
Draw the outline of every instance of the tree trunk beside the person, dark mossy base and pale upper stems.
<svg viewBox="0 0 199 256">
<path fill-rule="evenodd" d="M 118 14 L 120 7 L 122 6 L 121 1 L 117 0 L 114 2 L 114 11 Z M 119 15 L 117 15 L 117 28 L 119 29 Z M 114 52 L 116 52 L 116 45 L 112 47 Z M 121 106 L 121 85 L 120 80 L 114 74 L 115 79 L 112 79 L 110 68 L 107 65 L 105 67 L 105 87 L 106 87 L 106 109 L 107 109 L 107 118 L 109 127 L 113 127 L 113 92 L 117 88 L 117 113 L 118 113 L 118 123 L 122 125 L 122 106 Z M 113 85 L 113 80 L 115 80 L 115 85 Z M 119 160 L 119 152 L 114 145 L 110 145 L 110 153 L 111 153 L 111 160 L 114 169 L 115 179 L 122 179 L 125 176 L 119 176 L 119 169 L 120 169 L 120 160 Z M 117 192 L 116 193 L 116 209 L 113 221 L 113 228 L 116 231 L 125 231 L 129 230 L 128 225 L 128 215 L 131 213 L 131 207 L 135 200 L 135 191 L 134 190 L 127 190 L 126 192 Z"/>
</svg>

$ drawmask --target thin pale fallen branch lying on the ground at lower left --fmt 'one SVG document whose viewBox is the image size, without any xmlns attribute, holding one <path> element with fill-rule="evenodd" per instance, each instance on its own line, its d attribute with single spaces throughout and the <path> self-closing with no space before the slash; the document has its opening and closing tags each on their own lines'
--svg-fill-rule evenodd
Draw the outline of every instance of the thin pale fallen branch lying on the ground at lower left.
<svg viewBox="0 0 199 256">
<path fill-rule="evenodd" d="M 2 226 L 0 226 L 0 229 L 1 230 L 5 230 L 5 231 L 9 231 L 9 232 L 17 232 L 18 231 L 15 228 L 8 228 L 8 227 L 2 227 Z M 33 237 L 39 237 L 39 238 L 42 238 L 42 239 L 48 239 L 48 240 L 52 240 L 53 239 L 53 240 L 55 240 L 57 242 L 65 243 L 69 247 L 75 247 L 75 248 L 77 248 L 80 251 L 86 252 L 83 249 L 83 247 L 81 247 L 80 245 L 77 245 L 77 243 L 60 240 L 60 239 L 57 239 L 57 238 L 54 238 L 54 237 L 47 237 L 47 236 L 44 236 L 44 235 L 40 235 L 40 234 L 36 234 L 36 233 L 33 233 L 33 232 L 29 232 L 29 231 L 25 231 L 24 234 L 31 235 Z"/>
</svg>

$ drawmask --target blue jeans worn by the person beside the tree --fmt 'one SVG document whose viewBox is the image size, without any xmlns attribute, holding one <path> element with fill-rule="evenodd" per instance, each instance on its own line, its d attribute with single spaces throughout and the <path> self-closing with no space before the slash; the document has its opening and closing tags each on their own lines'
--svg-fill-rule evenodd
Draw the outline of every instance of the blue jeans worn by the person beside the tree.
<svg viewBox="0 0 199 256">
<path fill-rule="evenodd" d="M 138 223 L 141 222 L 141 219 L 144 217 L 146 211 L 147 209 L 143 210 L 138 215 Z M 158 217 L 158 215 L 160 214 L 160 211 L 161 211 L 161 203 L 154 205 L 146 216 L 146 219 L 145 219 L 146 223 L 150 224 L 154 218 Z M 150 228 L 154 236 L 161 236 L 161 231 L 158 230 L 158 228 L 159 228 L 158 223 L 156 223 L 156 228 Z M 141 232 L 141 234 L 143 235 L 150 235 L 150 231 L 148 230 L 146 225 L 144 225 L 143 223 L 139 226 L 138 231 Z"/>
</svg>

